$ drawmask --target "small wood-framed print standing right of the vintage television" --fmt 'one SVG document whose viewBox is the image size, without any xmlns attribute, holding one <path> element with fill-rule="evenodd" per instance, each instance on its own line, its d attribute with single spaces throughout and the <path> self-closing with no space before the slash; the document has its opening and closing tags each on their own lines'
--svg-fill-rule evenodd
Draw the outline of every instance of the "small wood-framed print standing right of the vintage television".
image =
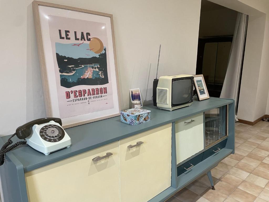
<svg viewBox="0 0 269 202">
<path fill-rule="evenodd" d="M 209 94 L 206 88 L 206 82 L 204 81 L 203 74 L 193 75 L 194 85 L 196 89 L 197 98 L 199 101 L 209 99 Z"/>
</svg>

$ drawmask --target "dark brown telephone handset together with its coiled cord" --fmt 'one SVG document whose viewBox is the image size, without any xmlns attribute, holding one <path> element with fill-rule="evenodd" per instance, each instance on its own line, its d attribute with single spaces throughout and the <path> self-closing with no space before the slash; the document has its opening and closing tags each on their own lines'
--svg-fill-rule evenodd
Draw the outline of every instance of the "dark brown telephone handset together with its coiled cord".
<svg viewBox="0 0 269 202">
<path fill-rule="evenodd" d="M 41 118 L 41 119 L 36 119 L 36 120 L 30 121 L 30 122 L 18 127 L 16 129 L 16 133 L 14 133 L 8 139 L 8 142 L 6 142 L 0 150 L 0 166 L 3 165 L 3 163 L 5 162 L 5 153 L 6 152 L 18 147 L 19 145 L 27 143 L 26 141 L 19 141 L 19 142 L 16 142 L 15 144 L 11 145 L 13 143 L 11 140 L 12 137 L 17 135 L 17 137 L 19 139 L 25 139 L 25 138 L 29 137 L 29 135 L 31 134 L 31 128 L 35 124 L 38 124 L 38 125 L 44 124 L 44 123 L 48 123 L 49 121 L 54 121 L 62 126 L 62 120 L 59 118 Z M 11 145 L 11 146 L 9 146 L 9 145 Z"/>
</svg>

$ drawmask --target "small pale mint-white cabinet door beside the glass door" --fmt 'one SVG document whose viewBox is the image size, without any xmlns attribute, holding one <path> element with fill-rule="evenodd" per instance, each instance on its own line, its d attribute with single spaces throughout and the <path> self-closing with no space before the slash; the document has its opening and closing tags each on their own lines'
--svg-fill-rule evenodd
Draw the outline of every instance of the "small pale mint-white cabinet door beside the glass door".
<svg viewBox="0 0 269 202">
<path fill-rule="evenodd" d="M 176 121 L 175 131 L 177 164 L 204 149 L 203 122 L 203 113 Z"/>
</svg>

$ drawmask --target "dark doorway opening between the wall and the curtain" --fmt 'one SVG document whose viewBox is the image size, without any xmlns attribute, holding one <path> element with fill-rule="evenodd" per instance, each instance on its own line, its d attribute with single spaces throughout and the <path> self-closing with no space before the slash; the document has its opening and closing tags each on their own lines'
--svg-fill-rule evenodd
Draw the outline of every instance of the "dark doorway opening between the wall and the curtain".
<svg viewBox="0 0 269 202">
<path fill-rule="evenodd" d="M 213 2 L 201 1 L 196 74 L 203 74 L 211 97 L 221 95 L 237 14 Z"/>
</svg>

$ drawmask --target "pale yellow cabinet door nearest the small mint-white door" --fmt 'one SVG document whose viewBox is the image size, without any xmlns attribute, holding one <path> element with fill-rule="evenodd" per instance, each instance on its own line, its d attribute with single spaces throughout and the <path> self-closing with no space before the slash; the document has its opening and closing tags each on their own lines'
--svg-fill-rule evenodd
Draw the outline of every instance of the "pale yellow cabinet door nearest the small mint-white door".
<svg viewBox="0 0 269 202">
<path fill-rule="evenodd" d="M 167 124 L 119 141 L 121 202 L 146 202 L 171 186 L 171 140 Z"/>
</svg>

